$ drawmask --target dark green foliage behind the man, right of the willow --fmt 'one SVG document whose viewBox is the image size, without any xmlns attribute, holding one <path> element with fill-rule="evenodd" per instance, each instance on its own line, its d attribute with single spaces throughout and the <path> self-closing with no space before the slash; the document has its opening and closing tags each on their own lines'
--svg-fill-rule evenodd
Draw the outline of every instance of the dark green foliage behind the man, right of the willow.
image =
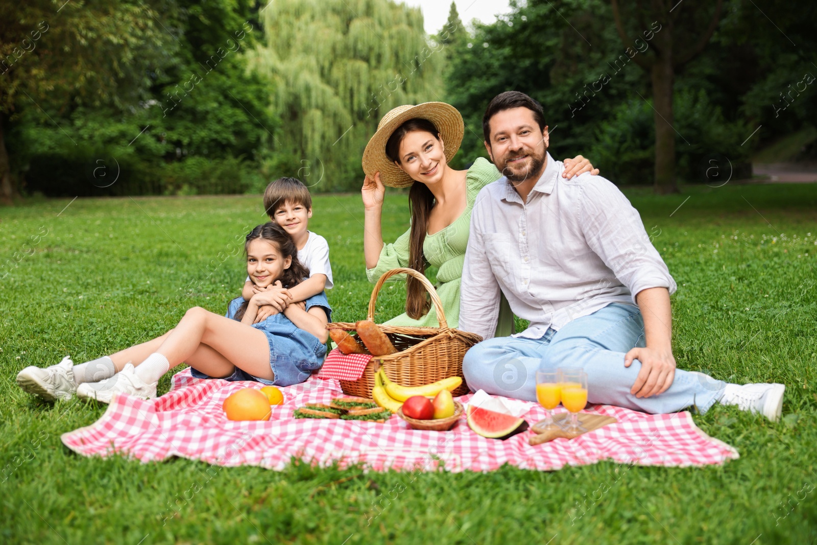
<svg viewBox="0 0 817 545">
<path fill-rule="evenodd" d="M 805 22 L 817 8 L 804 3 L 798 11 L 776 0 L 755 4 L 726 2 L 711 43 L 676 74 L 672 126 L 677 172 L 684 181 L 708 183 L 702 165 L 716 155 L 729 159 L 738 177 L 748 177 L 749 155 L 757 145 L 815 125 L 817 92 L 806 86 L 804 74 L 812 60 L 817 62 L 814 33 Z M 768 21 L 758 24 L 761 11 L 778 10 L 783 13 L 775 20 L 783 30 Z M 475 25 L 468 43 L 452 49 L 446 81 L 449 101 L 467 124 L 458 166 L 487 156 L 481 127 L 485 106 L 498 93 L 516 89 L 542 103 L 556 157 L 584 154 L 616 183 L 651 183 L 650 77 L 628 58 L 612 20 L 607 2 L 530 0 L 514 5 L 493 25 Z M 644 29 L 633 26 L 628 32 L 652 47 L 645 34 L 651 21 L 641 23 Z M 750 30 L 756 27 L 757 32 Z M 655 40 L 660 31 L 652 35 Z M 798 47 L 789 48 L 786 36 Z M 645 49 L 636 56 L 649 54 Z M 817 69 L 811 67 L 811 74 Z M 794 101 L 775 117 L 775 99 L 786 105 L 779 92 L 797 83 L 806 90 L 792 93 Z M 742 145 L 761 124 L 763 131 Z"/>
</svg>

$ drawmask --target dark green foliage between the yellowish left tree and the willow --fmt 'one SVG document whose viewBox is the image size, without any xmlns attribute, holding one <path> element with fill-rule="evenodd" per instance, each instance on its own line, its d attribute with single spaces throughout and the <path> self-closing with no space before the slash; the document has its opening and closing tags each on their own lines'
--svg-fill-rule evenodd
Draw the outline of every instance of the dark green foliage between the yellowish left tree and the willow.
<svg viewBox="0 0 817 545">
<path fill-rule="evenodd" d="M 69 93 L 69 107 L 46 102 L 14 118 L 9 150 L 26 190 L 242 193 L 260 185 L 250 165 L 275 118 L 266 109 L 266 83 L 247 74 L 243 58 L 261 34 L 252 3 L 174 6 L 176 19 L 165 15 L 158 26 L 162 55 L 143 68 L 144 81 L 114 78 L 112 95 Z"/>
</svg>

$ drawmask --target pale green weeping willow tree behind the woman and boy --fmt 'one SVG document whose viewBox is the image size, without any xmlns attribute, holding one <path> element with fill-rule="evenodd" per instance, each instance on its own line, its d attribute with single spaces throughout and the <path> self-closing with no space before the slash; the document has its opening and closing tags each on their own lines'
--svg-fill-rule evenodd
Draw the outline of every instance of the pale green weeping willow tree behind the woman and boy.
<svg viewBox="0 0 817 545">
<path fill-rule="evenodd" d="M 426 37 L 418 8 L 274 0 L 263 16 L 266 44 L 248 57 L 270 78 L 270 107 L 281 119 L 271 143 L 275 176 L 299 176 L 321 191 L 354 189 L 382 115 L 442 100 L 443 45 Z"/>
</svg>

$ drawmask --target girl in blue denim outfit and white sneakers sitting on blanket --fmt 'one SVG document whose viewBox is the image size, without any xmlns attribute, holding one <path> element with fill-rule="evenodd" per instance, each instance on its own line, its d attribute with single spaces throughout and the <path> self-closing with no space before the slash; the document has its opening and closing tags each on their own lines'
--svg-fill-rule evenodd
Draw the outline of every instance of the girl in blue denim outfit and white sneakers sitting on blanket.
<svg viewBox="0 0 817 545">
<path fill-rule="evenodd" d="M 236 297 L 220 316 L 196 306 L 179 324 L 152 341 L 74 365 L 65 357 L 47 368 L 27 367 L 17 375 L 23 390 L 46 400 L 74 393 L 109 403 L 115 394 L 156 397 L 158 379 L 181 362 L 199 378 L 221 377 L 290 386 L 319 369 L 326 353 L 331 309 L 325 293 L 290 303 L 287 288 L 309 276 L 297 260 L 292 238 L 270 221 L 253 229 L 244 245 L 247 273 L 264 289 L 249 301 Z M 283 313 L 253 324 L 258 307 L 285 306 Z M 132 362 L 136 362 L 132 364 Z"/>
</svg>

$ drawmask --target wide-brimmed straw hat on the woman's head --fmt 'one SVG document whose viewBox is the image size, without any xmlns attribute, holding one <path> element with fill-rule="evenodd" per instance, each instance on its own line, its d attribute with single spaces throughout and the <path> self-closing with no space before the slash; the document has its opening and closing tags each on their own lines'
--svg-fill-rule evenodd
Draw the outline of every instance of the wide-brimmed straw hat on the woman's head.
<svg viewBox="0 0 817 545">
<path fill-rule="evenodd" d="M 462 144 L 465 123 L 462 123 L 462 115 L 456 108 L 444 102 L 397 106 L 377 123 L 377 132 L 366 145 L 363 152 L 363 171 L 366 174 L 374 176 L 375 172 L 380 171 L 381 181 L 390 187 L 407 187 L 414 183 L 411 176 L 386 156 L 386 142 L 391 138 L 391 134 L 397 127 L 413 118 L 428 119 L 440 131 L 440 138 L 445 143 L 446 163 L 457 153 Z"/>
</svg>

